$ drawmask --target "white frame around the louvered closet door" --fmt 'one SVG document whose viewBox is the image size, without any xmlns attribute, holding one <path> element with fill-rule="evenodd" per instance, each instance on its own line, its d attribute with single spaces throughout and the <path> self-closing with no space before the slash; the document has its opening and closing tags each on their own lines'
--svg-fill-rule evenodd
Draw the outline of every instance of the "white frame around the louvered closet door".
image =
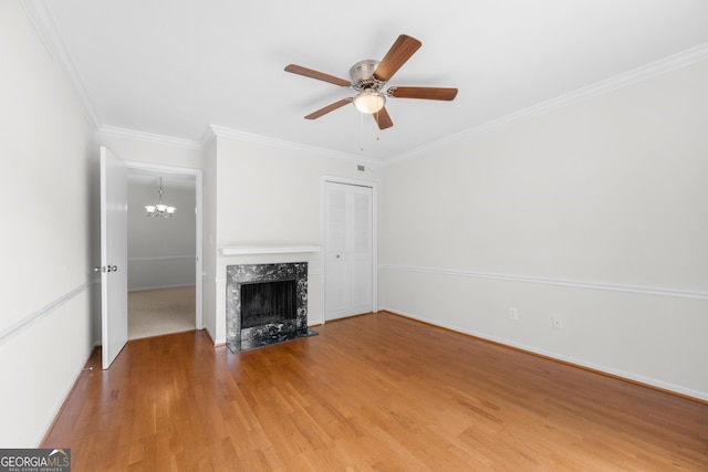
<svg viewBox="0 0 708 472">
<path fill-rule="evenodd" d="M 326 274 L 326 261 L 324 258 L 327 253 L 326 248 L 326 185 L 341 183 L 356 187 L 367 187 L 372 189 L 372 313 L 378 312 L 378 190 L 376 182 L 371 180 L 347 179 L 344 177 L 331 177 L 324 176 L 321 178 L 321 208 L 320 208 L 320 231 L 322 238 L 322 297 L 324 298 L 322 311 L 322 324 L 326 323 L 327 318 L 327 300 L 326 290 L 324 284 L 327 280 Z"/>
</svg>

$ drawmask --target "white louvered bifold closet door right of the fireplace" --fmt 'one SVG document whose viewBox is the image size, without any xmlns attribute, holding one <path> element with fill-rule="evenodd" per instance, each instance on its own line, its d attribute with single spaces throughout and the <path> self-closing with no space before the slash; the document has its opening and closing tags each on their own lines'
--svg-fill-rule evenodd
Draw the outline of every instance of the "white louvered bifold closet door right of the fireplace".
<svg viewBox="0 0 708 472">
<path fill-rule="evenodd" d="M 325 183 L 326 319 L 373 310 L 373 191 Z"/>
</svg>

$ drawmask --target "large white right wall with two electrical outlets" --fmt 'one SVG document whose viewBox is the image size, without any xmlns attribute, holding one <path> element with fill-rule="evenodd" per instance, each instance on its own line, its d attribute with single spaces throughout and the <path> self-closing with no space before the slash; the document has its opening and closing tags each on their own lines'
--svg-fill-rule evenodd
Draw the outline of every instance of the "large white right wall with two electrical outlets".
<svg viewBox="0 0 708 472">
<path fill-rule="evenodd" d="M 706 84 L 704 61 L 388 166 L 382 306 L 708 399 Z"/>
</svg>

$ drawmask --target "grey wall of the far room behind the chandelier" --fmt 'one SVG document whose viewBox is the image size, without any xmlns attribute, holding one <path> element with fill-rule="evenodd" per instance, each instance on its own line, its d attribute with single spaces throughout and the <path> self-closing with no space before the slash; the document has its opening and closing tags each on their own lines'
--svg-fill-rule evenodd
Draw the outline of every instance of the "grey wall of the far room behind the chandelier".
<svg viewBox="0 0 708 472">
<path fill-rule="evenodd" d="M 158 177 L 131 182 L 128 179 L 128 291 L 166 289 L 195 284 L 196 196 L 194 185 L 170 186 L 163 179 L 163 200 L 177 208 L 173 218 L 147 218 L 145 206 L 159 199 Z M 189 186 L 185 188 L 184 186 Z"/>
</svg>

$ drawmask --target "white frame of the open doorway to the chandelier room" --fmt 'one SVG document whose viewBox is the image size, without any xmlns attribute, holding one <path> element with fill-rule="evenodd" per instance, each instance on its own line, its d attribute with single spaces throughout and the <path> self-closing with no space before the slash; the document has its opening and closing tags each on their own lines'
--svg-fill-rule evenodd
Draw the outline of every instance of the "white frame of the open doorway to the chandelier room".
<svg viewBox="0 0 708 472">
<path fill-rule="evenodd" d="M 195 200 L 197 212 L 196 218 L 196 264 L 195 264 L 195 327 L 197 329 L 204 328 L 204 240 L 202 240 L 202 225 L 204 225 L 204 196 L 202 196 L 202 170 L 192 169 L 189 167 L 176 167 L 165 166 L 158 164 L 138 162 L 134 160 L 126 160 L 127 170 L 139 169 L 153 172 L 168 172 L 178 174 L 184 176 L 195 177 Z"/>
</svg>

